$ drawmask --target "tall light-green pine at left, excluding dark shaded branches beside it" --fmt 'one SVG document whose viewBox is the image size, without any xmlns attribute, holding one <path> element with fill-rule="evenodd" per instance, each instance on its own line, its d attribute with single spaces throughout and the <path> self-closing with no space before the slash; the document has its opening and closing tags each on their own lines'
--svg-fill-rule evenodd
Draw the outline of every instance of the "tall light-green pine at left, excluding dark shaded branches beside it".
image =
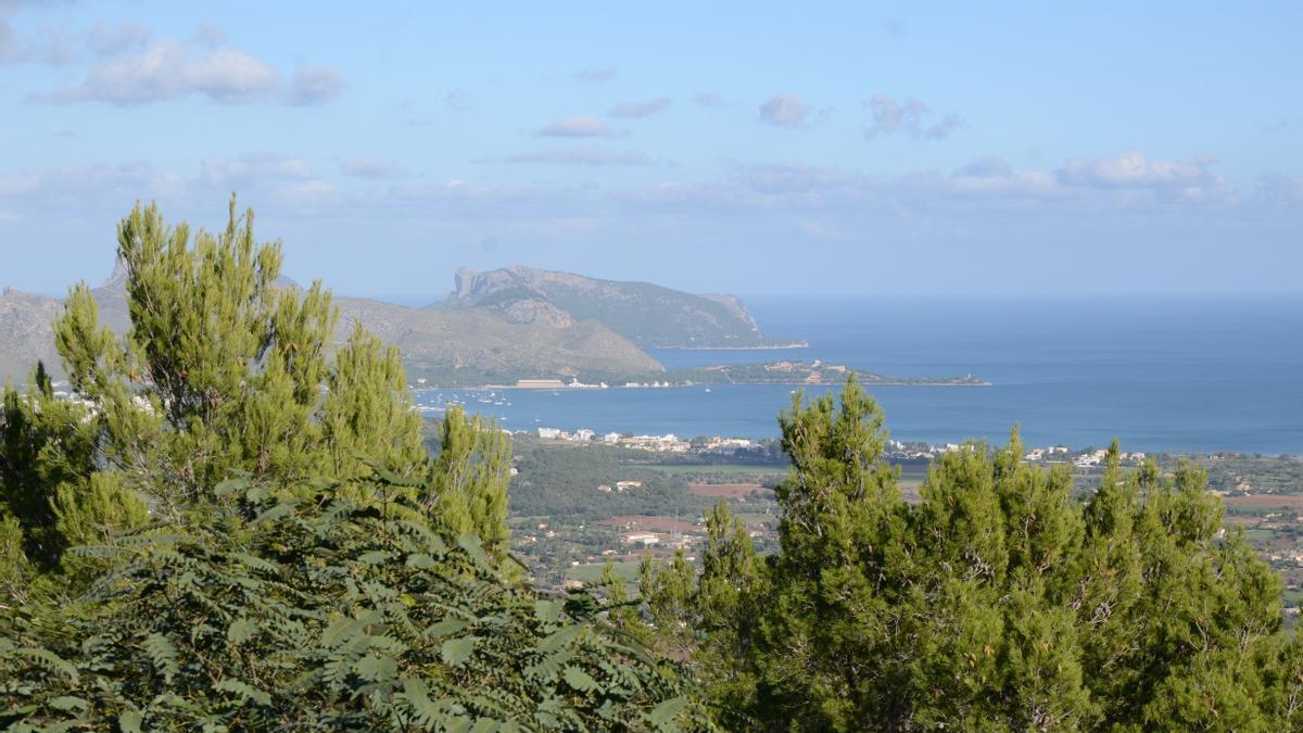
<svg viewBox="0 0 1303 733">
<path fill-rule="evenodd" d="M 255 244 L 253 213 L 237 217 L 235 198 L 216 235 L 192 243 L 188 224 L 137 205 L 117 241 L 132 327 L 120 338 L 103 327 L 81 284 L 55 337 L 77 396 L 95 408 L 96 450 L 159 511 L 207 501 L 233 470 L 356 475 L 353 450 L 420 463 L 397 353 L 358 327 L 332 365 L 331 293 L 279 284 L 280 244 Z"/>
</svg>

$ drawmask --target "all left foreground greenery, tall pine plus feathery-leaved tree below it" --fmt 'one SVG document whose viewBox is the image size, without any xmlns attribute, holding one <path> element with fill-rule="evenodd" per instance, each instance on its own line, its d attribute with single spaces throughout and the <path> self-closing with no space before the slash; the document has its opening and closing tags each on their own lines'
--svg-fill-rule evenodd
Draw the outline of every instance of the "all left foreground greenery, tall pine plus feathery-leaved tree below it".
<svg viewBox="0 0 1303 733">
<path fill-rule="evenodd" d="M 132 327 L 77 287 L 0 412 L 0 726 L 705 725 L 588 592 L 519 580 L 509 449 L 452 411 L 423 450 L 397 353 L 319 284 L 275 287 L 251 215 L 119 227 Z"/>
</svg>

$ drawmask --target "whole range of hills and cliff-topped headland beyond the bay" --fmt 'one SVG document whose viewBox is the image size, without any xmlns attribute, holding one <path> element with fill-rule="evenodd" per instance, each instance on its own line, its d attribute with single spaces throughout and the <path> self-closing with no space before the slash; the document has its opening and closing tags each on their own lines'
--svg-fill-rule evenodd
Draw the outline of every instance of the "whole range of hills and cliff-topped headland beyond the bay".
<svg viewBox="0 0 1303 733">
<path fill-rule="evenodd" d="M 281 287 L 297 287 L 280 280 Z M 122 333 L 125 273 L 93 291 L 102 321 Z M 644 348 L 752 347 L 765 340 L 740 300 L 692 295 L 650 283 L 598 280 L 507 267 L 459 270 L 456 292 L 427 308 L 336 297 L 343 343 L 361 321 L 403 353 L 413 381 L 461 386 L 521 378 L 588 382 L 654 377 L 665 368 Z M 60 376 L 52 323 L 63 301 L 5 290 L 0 295 L 0 380 L 23 381 L 36 360 Z"/>
</svg>

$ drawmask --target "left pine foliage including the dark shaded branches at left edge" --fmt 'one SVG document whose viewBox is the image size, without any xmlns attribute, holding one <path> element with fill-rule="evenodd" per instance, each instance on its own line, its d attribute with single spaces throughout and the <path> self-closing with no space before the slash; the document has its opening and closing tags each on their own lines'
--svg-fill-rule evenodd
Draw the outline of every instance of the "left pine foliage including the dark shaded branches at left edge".
<svg viewBox="0 0 1303 733">
<path fill-rule="evenodd" d="M 117 243 L 130 329 L 103 327 L 77 286 L 55 323 L 72 394 L 55 394 L 42 364 L 25 393 L 5 387 L 0 515 L 17 522 L 7 546 L 21 540 L 23 557 L 4 575 L 38 576 L 0 583 L 0 599 L 66 601 L 103 565 L 68 546 L 147 514 L 179 520 L 233 471 L 348 479 L 371 471 L 362 451 L 388 471 L 429 472 L 397 352 L 358 326 L 331 360 L 330 292 L 278 283 L 280 245 L 255 244 L 235 198 L 224 231 L 194 237 L 138 205 Z"/>
</svg>

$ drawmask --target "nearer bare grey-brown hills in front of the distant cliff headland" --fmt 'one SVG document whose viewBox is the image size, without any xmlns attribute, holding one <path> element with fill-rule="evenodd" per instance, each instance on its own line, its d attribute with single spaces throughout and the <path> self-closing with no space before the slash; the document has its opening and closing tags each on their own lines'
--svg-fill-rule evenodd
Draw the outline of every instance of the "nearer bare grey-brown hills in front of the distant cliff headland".
<svg viewBox="0 0 1303 733">
<path fill-rule="evenodd" d="M 93 292 L 103 322 L 121 333 L 129 318 L 120 274 Z M 335 303 L 340 309 L 336 343 L 360 320 L 399 347 L 412 380 L 455 386 L 542 377 L 612 381 L 663 372 L 659 363 L 602 323 L 546 308 L 528 317 L 519 308 L 509 316 L 489 308 L 405 308 L 353 297 L 336 297 Z M 63 301 L 53 297 L 14 290 L 0 295 L 0 380 L 23 381 L 36 360 L 61 376 L 52 330 L 61 308 Z"/>
</svg>

